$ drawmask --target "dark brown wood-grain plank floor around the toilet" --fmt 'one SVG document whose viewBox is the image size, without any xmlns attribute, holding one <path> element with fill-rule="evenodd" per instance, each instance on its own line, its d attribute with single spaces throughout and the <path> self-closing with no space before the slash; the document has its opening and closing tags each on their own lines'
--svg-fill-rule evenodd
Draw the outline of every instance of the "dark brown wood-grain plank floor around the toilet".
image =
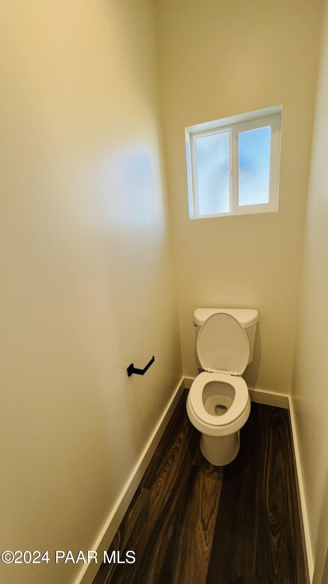
<svg viewBox="0 0 328 584">
<path fill-rule="evenodd" d="M 93 584 L 306 584 L 288 411 L 252 404 L 240 451 L 208 463 L 173 413 Z"/>
</svg>

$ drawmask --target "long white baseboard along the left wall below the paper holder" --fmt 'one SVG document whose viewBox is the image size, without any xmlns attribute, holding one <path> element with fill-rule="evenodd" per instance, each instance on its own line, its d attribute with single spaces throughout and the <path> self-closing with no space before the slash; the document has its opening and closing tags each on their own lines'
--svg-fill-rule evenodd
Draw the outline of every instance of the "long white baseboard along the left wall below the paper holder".
<svg viewBox="0 0 328 584">
<path fill-rule="evenodd" d="M 131 475 L 126 482 L 123 491 L 121 492 L 121 495 L 116 502 L 116 505 L 114 505 L 113 510 L 111 510 L 111 513 L 106 523 L 104 524 L 103 529 L 100 531 L 100 534 L 97 537 L 95 543 L 93 544 L 93 547 L 90 548 L 98 552 L 97 555 L 99 558 L 103 557 L 103 551 L 108 550 L 111 541 L 113 541 L 114 535 L 120 526 L 121 520 L 127 512 L 128 506 L 131 503 L 135 491 L 137 491 L 139 482 L 141 481 L 144 472 L 148 467 L 149 462 L 151 461 L 153 453 L 158 446 L 159 440 L 163 436 L 164 430 L 168 425 L 173 412 L 175 411 L 175 407 L 182 395 L 183 390 L 184 378 L 182 378 L 179 385 L 177 385 L 175 391 L 173 392 L 172 398 L 170 398 L 170 401 L 168 402 L 168 405 L 160 417 L 155 430 L 153 430 L 148 443 L 146 444 L 141 456 L 139 457 L 139 460 L 137 461 L 137 464 L 131 472 Z M 99 568 L 100 564 L 95 564 L 95 562 L 83 565 L 81 572 L 75 580 L 75 584 L 92 584 Z"/>
</svg>

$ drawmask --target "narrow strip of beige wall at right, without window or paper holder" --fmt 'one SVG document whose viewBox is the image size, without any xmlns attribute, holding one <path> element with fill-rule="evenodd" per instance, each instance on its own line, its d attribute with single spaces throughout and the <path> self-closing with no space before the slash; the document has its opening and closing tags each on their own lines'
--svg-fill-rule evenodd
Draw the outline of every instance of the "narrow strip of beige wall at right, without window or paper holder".
<svg viewBox="0 0 328 584">
<path fill-rule="evenodd" d="M 328 9 L 328 4 L 327 4 Z M 328 550 L 328 10 L 317 91 L 292 399 L 315 572 Z M 324 563 L 326 562 L 326 568 Z M 324 576 L 322 579 L 322 575 Z"/>
</svg>

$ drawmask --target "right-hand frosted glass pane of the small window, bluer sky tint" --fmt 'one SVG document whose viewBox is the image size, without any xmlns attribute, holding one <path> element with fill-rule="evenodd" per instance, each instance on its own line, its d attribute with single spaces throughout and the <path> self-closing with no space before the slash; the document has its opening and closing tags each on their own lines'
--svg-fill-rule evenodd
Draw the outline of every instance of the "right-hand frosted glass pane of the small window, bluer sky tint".
<svg viewBox="0 0 328 584">
<path fill-rule="evenodd" d="M 269 200 L 270 126 L 238 134 L 239 205 Z"/>
</svg>

